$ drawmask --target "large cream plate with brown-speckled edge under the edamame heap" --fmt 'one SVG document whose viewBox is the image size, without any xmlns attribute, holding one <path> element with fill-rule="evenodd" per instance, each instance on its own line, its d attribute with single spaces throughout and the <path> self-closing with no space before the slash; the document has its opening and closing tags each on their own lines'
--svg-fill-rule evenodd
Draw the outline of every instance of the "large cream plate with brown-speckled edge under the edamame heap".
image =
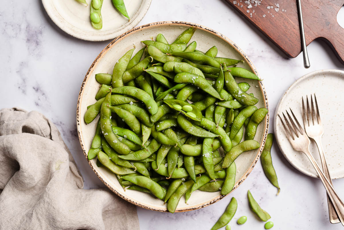
<svg viewBox="0 0 344 230">
<path fill-rule="evenodd" d="M 156 22 L 135 28 L 116 38 L 109 45 L 107 45 L 103 51 L 101 51 L 89 68 L 81 86 L 77 104 L 77 129 L 80 143 L 86 157 L 92 142 L 92 138 L 95 134 L 98 120 L 98 118 L 96 118 L 95 121 L 88 125 L 86 125 L 84 122 L 84 114 L 87 110 L 87 106 L 96 102 L 94 97 L 99 89 L 99 83 L 97 83 L 95 80 L 95 74 L 112 73 L 112 69 L 116 60 L 118 60 L 129 49 L 132 49 L 133 44 L 136 46 L 137 52 L 144 47 L 140 41 L 149 40 L 152 37 L 155 39 L 159 33 L 162 33 L 169 42 L 173 42 L 173 40 L 179 36 L 179 34 L 191 26 L 197 27 L 197 30 L 195 31 L 191 41 L 197 41 L 198 50 L 206 51 L 213 45 L 216 45 L 218 48 L 218 56 L 244 60 L 245 63 L 241 63 L 239 66 L 245 67 L 246 69 L 258 75 L 255 67 L 251 64 L 243 51 L 238 48 L 238 46 L 236 46 L 232 41 L 227 39 L 222 34 L 205 28 L 201 25 L 186 22 Z M 268 108 L 267 95 L 262 82 L 249 79 L 236 80 L 238 82 L 245 81 L 251 85 L 248 93 L 253 93 L 259 99 L 259 102 L 256 105 L 258 108 Z M 265 117 L 264 121 L 262 121 L 257 129 L 255 140 L 260 143 L 261 147 L 256 150 L 245 152 L 235 160 L 237 173 L 236 184 L 234 188 L 237 188 L 241 182 L 247 178 L 252 168 L 255 166 L 265 144 L 266 135 L 268 132 L 268 121 L 269 114 Z M 104 167 L 97 167 L 95 159 L 90 160 L 89 164 L 97 176 L 104 182 L 104 184 L 123 199 L 143 208 L 156 211 L 167 211 L 166 205 L 164 205 L 163 201 L 156 199 L 149 194 L 133 190 L 124 191 L 119 185 L 115 175 Z M 202 208 L 218 201 L 223 197 L 224 196 L 221 196 L 219 192 L 202 192 L 197 190 L 192 194 L 188 204 L 185 203 L 184 198 L 180 200 L 176 212 Z"/>
</svg>

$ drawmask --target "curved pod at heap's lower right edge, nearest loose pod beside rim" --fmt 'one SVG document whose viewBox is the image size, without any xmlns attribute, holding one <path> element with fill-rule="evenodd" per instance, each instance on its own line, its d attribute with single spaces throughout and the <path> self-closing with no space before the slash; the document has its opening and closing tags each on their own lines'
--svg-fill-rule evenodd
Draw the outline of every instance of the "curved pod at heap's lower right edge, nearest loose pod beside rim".
<svg viewBox="0 0 344 230">
<path fill-rule="evenodd" d="M 223 159 L 222 168 L 228 168 L 234 160 L 243 152 L 249 151 L 252 149 L 259 148 L 259 143 L 255 140 L 244 140 L 243 142 L 239 143 L 237 146 L 234 146 Z"/>
</svg>

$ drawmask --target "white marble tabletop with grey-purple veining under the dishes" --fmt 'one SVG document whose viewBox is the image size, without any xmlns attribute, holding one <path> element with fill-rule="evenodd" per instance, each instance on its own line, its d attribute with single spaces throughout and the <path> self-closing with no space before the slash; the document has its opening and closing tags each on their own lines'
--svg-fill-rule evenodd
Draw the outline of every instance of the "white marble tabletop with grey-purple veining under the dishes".
<svg viewBox="0 0 344 230">
<path fill-rule="evenodd" d="M 276 0 L 276 2 L 283 2 Z M 89 167 L 76 132 L 76 102 L 80 85 L 98 53 L 109 43 L 86 42 L 67 35 L 47 17 L 41 1 L 4 1 L 0 9 L 0 107 L 19 106 L 39 111 L 59 128 L 84 177 L 85 188 L 105 187 Z M 233 40 L 251 59 L 264 78 L 270 114 L 286 88 L 302 75 L 342 65 L 329 46 L 314 41 L 308 46 L 311 67 L 303 68 L 302 55 L 288 59 L 262 33 L 222 0 L 153 0 L 140 25 L 155 21 L 189 21 L 205 25 Z M 344 17 L 338 17 L 344 21 Z M 270 132 L 273 130 L 270 119 Z M 325 190 L 318 179 L 302 175 L 272 148 L 281 193 L 270 185 L 258 163 L 247 180 L 227 198 L 206 208 L 186 213 L 159 213 L 138 208 L 141 229 L 210 229 L 232 196 L 238 210 L 232 229 L 264 229 L 249 210 L 246 192 L 267 210 L 273 229 L 341 229 L 330 224 Z M 344 180 L 334 181 L 344 198 Z M 238 226 L 238 217 L 247 223 Z"/>
</svg>

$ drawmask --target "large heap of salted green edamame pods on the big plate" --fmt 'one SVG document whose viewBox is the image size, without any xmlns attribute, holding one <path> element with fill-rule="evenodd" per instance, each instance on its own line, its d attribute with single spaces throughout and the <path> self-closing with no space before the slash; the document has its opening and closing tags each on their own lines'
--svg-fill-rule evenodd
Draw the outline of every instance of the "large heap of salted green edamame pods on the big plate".
<svg viewBox="0 0 344 230">
<path fill-rule="evenodd" d="M 260 147 L 254 137 L 268 112 L 234 79 L 258 76 L 236 67 L 240 60 L 216 57 L 215 46 L 203 53 L 196 41 L 187 45 L 194 32 L 172 44 L 158 34 L 133 57 L 135 47 L 127 51 L 112 74 L 96 74 L 97 102 L 84 116 L 88 124 L 100 114 L 88 159 L 98 157 L 124 189 L 150 193 L 172 213 L 197 189 L 232 191 L 234 160 Z"/>
</svg>

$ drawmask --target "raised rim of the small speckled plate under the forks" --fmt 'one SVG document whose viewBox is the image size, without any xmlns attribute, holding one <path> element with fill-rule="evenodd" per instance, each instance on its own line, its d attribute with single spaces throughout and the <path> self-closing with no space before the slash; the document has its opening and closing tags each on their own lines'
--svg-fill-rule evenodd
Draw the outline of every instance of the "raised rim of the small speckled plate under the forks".
<svg viewBox="0 0 344 230">
<path fill-rule="evenodd" d="M 281 96 L 281 99 L 279 100 L 277 106 L 276 106 L 276 110 L 275 110 L 275 117 L 273 119 L 273 130 L 275 133 L 278 132 L 277 130 L 277 123 L 280 122 L 279 119 L 277 119 L 277 114 L 278 112 L 280 111 L 280 107 L 281 107 L 281 104 L 282 102 L 284 101 L 284 98 L 286 98 L 287 94 L 289 93 L 289 91 L 291 91 L 294 87 L 296 87 L 300 82 L 304 81 L 305 79 L 309 78 L 309 77 L 312 77 L 314 75 L 319 75 L 319 74 L 326 74 L 326 73 L 336 73 L 338 75 L 342 75 L 343 76 L 343 79 L 344 79 L 344 71 L 342 70 L 335 70 L 335 69 L 327 69 L 327 70 L 316 70 L 316 71 L 313 71 L 311 73 L 308 73 L 308 74 L 305 74 L 303 75 L 302 77 L 300 77 L 298 80 L 296 80 L 293 84 L 291 84 L 291 86 L 288 87 L 288 89 L 286 90 L 286 92 L 284 92 Z M 310 173 L 309 171 L 306 171 L 302 168 L 299 168 L 297 167 L 296 165 L 294 165 L 291 161 L 291 159 L 289 159 L 288 157 L 288 154 L 290 153 L 285 153 L 283 151 L 283 148 L 281 147 L 282 146 L 282 142 L 281 140 L 279 139 L 278 135 L 275 135 L 276 136 L 276 142 L 277 142 L 277 145 L 279 147 L 279 149 L 281 150 L 283 156 L 289 161 L 289 163 L 294 166 L 294 168 L 296 168 L 297 170 L 299 170 L 300 172 L 302 172 L 303 174 L 307 175 L 307 176 L 310 176 L 310 177 L 314 177 L 314 178 L 319 178 L 318 175 L 316 174 L 313 174 L 313 173 Z M 300 153 L 302 154 L 302 153 Z M 331 177 L 332 179 L 339 179 L 339 178 L 343 178 L 344 177 L 344 174 L 342 176 L 339 176 L 339 177 Z"/>
</svg>

